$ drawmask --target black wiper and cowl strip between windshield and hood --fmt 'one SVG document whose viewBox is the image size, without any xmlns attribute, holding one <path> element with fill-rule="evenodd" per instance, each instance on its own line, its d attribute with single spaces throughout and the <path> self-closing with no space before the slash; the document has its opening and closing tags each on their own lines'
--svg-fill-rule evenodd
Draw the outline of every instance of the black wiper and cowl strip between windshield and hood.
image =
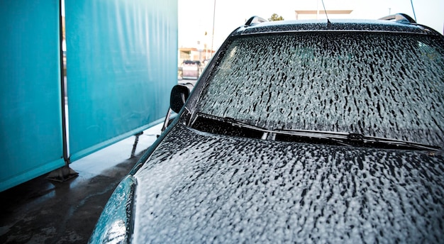
<svg viewBox="0 0 444 244">
<path fill-rule="evenodd" d="M 311 131 L 289 129 L 267 129 L 236 121 L 231 117 L 218 117 L 206 113 L 197 113 L 193 128 L 209 133 L 236 135 L 264 140 L 278 140 L 299 143 L 316 143 L 327 145 L 345 145 L 367 148 L 407 149 L 407 150 L 434 150 L 442 148 L 435 145 L 414 143 L 392 138 L 378 138 L 360 133 L 344 133 L 335 131 Z"/>
</svg>

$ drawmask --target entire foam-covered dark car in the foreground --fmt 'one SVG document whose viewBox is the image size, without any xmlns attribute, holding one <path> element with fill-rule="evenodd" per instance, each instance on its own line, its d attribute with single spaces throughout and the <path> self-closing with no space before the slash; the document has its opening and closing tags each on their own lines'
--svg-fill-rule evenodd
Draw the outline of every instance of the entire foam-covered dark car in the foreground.
<svg viewBox="0 0 444 244">
<path fill-rule="evenodd" d="M 442 243 L 444 37 L 250 18 L 123 179 L 91 243 Z M 168 120 L 165 120 L 168 121 Z"/>
</svg>

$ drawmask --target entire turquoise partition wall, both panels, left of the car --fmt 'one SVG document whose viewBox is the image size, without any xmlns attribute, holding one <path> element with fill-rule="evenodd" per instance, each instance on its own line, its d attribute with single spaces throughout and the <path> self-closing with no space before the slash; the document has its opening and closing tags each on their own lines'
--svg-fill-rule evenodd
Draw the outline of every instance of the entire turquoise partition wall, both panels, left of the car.
<svg viewBox="0 0 444 244">
<path fill-rule="evenodd" d="M 167 113 L 177 84 L 177 0 L 65 0 L 65 23 L 67 127 L 60 1 L 0 1 L 0 192 Z"/>
</svg>

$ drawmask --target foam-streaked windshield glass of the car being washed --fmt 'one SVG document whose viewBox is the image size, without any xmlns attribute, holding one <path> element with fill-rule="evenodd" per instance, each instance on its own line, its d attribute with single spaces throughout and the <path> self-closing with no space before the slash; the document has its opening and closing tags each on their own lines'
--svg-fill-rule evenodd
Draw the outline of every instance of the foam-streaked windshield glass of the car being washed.
<svg viewBox="0 0 444 244">
<path fill-rule="evenodd" d="M 444 44 L 405 33 L 250 35 L 228 44 L 201 113 L 270 130 L 444 142 Z"/>
</svg>

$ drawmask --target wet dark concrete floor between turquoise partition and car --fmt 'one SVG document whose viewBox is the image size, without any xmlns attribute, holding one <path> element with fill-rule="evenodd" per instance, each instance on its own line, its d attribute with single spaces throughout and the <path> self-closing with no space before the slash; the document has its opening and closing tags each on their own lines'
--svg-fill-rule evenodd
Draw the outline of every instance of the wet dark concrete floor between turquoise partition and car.
<svg viewBox="0 0 444 244">
<path fill-rule="evenodd" d="M 0 192 L 0 243 L 87 243 L 118 182 L 160 134 L 162 124 L 72 162 L 66 182 L 47 175 Z"/>
</svg>

